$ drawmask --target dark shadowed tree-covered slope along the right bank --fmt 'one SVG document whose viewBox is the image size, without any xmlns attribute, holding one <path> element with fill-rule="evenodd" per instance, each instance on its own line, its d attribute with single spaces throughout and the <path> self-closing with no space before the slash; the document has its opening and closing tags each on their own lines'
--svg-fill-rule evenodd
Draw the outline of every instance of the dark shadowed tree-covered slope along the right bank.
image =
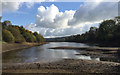
<svg viewBox="0 0 120 75">
<path fill-rule="evenodd" d="M 51 39 L 47 39 L 51 41 Z M 120 16 L 105 20 L 99 28 L 91 27 L 89 31 L 68 37 L 52 38 L 52 41 L 101 43 L 120 46 Z"/>
</svg>

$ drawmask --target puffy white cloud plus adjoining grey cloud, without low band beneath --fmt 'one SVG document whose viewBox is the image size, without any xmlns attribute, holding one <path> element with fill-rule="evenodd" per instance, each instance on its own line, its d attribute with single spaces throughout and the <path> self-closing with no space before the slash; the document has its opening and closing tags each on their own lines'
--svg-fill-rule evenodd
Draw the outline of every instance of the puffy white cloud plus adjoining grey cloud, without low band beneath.
<svg viewBox="0 0 120 75">
<path fill-rule="evenodd" d="M 116 2 L 85 2 L 76 11 L 59 9 L 52 4 L 50 7 L 40 6 L 36 15 L 36 24 L 46 28 L 67 28 L 75 25 L 100 23 L 102 20 L 118 15 Z"/>
</svg>

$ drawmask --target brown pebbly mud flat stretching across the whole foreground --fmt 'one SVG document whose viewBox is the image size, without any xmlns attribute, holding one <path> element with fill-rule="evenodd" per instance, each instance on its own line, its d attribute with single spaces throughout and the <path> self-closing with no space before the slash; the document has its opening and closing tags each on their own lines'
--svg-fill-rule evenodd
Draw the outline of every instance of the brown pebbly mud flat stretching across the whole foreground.
<svg viewBox="0 0 120 75">
<path fill-rule="evenodd" d="M 63 59 L 48 63 L 3 64 L 3 73 L 103 73 L 120 74 L 120 63 L 91 61 L 82 59 Z"/>
</svg>

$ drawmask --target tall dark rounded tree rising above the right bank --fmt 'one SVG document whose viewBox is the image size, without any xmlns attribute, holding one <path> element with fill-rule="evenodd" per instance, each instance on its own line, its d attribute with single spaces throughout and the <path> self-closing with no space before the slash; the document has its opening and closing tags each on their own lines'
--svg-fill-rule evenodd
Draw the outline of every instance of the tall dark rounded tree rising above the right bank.
<svg viewBox="0 0 120 75">
<path fill-rule="evenodd" d="M 112 38 L 112 33 L 114 32 L 115 21 L 114 20 L 106 20 L 100 24 L 98 30 L 98 38 L 101 41 L 107 41 L 108 38 Z M 109 40 L 109 39 L 108 39 Z"/>
</svg>

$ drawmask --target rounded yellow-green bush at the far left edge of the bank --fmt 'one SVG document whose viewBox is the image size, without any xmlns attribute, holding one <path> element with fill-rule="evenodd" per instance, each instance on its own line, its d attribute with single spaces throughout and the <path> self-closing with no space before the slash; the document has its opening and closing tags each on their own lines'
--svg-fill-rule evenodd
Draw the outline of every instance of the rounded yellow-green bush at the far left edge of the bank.
<svg viewBox="0 0 120 75">
<path fill-rule="evenodd" d="M 12 35 L 12 33 L 6 29 L 3 29 L 2 30 L 2 39 L 3 41 L 5 42 L 14 42 L 15 41 L 15 38 L 14 36 Z"/>
</svg>

